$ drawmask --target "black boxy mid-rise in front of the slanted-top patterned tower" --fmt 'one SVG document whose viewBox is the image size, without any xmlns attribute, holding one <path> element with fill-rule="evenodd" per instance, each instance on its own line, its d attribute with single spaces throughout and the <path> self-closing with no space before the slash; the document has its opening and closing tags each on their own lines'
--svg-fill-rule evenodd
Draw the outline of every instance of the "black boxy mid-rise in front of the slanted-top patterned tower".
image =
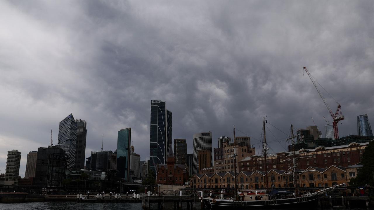
<svg viewBox="0 0 374 210">
<path fill-rule="evenodd" d="M 47 187 L 49 192 L 62 190 L 68 158 L 64 149 L 57 146 L 40 147 L 36 160 L 34 185 Z"/>
</svg>

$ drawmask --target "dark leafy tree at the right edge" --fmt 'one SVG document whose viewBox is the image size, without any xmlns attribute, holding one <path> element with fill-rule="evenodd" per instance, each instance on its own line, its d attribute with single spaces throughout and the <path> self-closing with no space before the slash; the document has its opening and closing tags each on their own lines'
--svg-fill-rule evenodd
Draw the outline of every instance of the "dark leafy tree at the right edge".
<svg viewBox="0 0 374 210">
<path fill-rule="evenodd" d="M 350 180 L 353 186 L 374 186 L 374 140 L 369 142 L 362 155 L 362 168 L 356 178 Z"/>
</svg>

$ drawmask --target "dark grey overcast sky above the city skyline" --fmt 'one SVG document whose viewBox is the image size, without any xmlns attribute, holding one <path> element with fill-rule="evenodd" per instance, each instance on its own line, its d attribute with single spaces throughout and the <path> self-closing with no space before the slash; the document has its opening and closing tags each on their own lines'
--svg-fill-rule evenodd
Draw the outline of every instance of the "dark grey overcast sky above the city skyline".
<svg viewBox="0 0 374 210">
<path fill-rule="evenodd" d="M 114 151 L 131 127 L 145 160 L 151 100 L 166 101 L 188 153 L 194 133 L 212 131 L 217 147 L 233 124 L 258 151 L 264 115 L 325 137 L 331 116 L 304 66 L 341 104 L 340 136 L 356 135 L 357 115 L 374 119 L 373 11 L 373 1 L 0 1 L 0 173 L 17 149 L 23 177 L 27 153 L 51 129 L 57 143 L 70 113 L 87 121 L 86 157 L 102 134 Z M 284 151 L 286 135 L 267 126 Z"/>
</svg>

